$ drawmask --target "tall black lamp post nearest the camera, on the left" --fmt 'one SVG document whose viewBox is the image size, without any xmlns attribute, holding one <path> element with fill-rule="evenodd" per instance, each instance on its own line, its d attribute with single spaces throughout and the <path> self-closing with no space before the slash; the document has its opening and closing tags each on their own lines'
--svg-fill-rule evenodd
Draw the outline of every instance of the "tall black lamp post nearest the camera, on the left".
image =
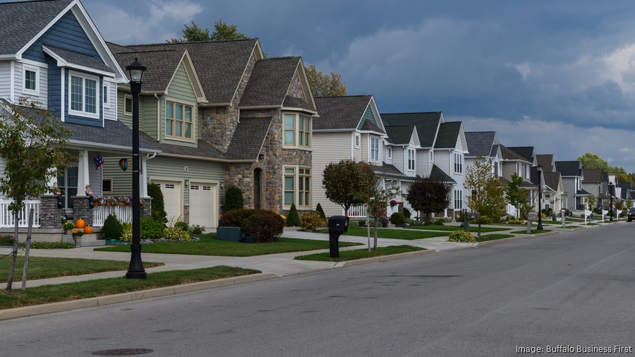
<svg viewBox="0 0 635 357">
<path fill-rule="evenodd" d="M 130 66 L 126 67 L 130 75 L 130 90 L 133 94 L 133 243 L 130 246 L 131 257 L 127 279 L 145 279 L 147 274 L 143 269 L 141 261 L 141 227 L 139 212 L 139 93 L 141 92 L 141 81 L 145 67 L 137 59 Z"/>
</svg>

